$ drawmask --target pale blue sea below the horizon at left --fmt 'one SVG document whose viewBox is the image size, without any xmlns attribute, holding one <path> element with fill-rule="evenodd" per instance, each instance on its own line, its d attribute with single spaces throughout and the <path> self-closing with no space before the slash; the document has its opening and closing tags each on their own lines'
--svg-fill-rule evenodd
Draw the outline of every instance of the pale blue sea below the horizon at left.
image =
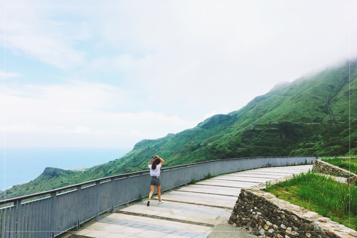
<svg viewBox="0 0 357 238">
<path fill-rule="evenodd" d="M 0 190 L 39 177 L 46 167 L 83 169 L 119 159 L 122 148 L 0 148 Z"/>
</svg>

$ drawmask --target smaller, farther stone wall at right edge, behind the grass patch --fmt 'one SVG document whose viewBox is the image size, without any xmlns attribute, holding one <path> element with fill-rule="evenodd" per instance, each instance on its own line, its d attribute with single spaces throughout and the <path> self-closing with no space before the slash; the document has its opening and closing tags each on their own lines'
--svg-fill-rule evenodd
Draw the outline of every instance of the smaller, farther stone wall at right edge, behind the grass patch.
<svg viewBox="0 0 357 238">
<path fill-rule="evenodd" d="M 344 177 L 348 178 L 347 181 L 353 183 L 357 186 L 357 175 L 351 173 L 348 170 L 342 169 L 340 167 L 331 165 L 327 162 L 322 160 L 315 160 L 315 163 L 312 167 L 313 172 L 323 173 L 327 175 L 337 176 L 337 177 Z"/>
</svg>

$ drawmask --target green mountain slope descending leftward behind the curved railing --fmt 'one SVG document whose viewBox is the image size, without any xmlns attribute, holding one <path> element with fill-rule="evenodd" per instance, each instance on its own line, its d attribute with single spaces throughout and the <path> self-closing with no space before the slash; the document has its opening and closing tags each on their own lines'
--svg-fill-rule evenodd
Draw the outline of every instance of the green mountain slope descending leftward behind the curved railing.
<svg viewBox="0 0 357 238">
<path fill-rule="evenodd" d="M 165 159 L 165 166 L 240 157 L 346 155 L 350 145 L 351 153 L 357 150 L 356 113 L 354 60 L 280 83 L 238 111 L 215 115 L 194 128 L 142 140 L 120 159 L 85 171 L 46 168 L 37 179 L 7 189 L 6 198 L 147 170 L 155 154 Z"/>
</svg>

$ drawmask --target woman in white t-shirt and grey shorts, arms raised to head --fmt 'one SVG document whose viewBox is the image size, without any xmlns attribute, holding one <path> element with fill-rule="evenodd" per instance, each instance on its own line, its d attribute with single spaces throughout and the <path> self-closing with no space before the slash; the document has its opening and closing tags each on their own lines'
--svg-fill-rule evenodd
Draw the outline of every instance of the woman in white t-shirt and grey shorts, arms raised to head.
<svg viewBox="0 0 357 238">
<path fill-rule="evenodd" d="M 154 193 L 155 186 L 156 186 L 156 190 L 158 191 L 159 203 L 163 203 L 163 201 L 161 200 L 161 190 L 160 190 L 161 189 L 160 168 L 162 164 L 164 164 L 164 160 L 160 158 L 158 155 L 155 155 L 148 164 L 148 167 L 150 169 L 151 185 L 150 185 L 149 200 L 148 203 L 146 204 L 147 206 L 150 206 L 150 199 L 152 194 Z"/>
</svg>

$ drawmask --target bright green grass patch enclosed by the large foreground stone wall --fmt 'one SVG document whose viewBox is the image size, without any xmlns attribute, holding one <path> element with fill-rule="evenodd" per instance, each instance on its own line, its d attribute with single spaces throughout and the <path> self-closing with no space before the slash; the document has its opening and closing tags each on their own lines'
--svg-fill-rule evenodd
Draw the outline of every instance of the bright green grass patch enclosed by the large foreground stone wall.
<svg viewBox="0 0 357 238">
<path fill-rule="evenodd" d="M 266 191 L 357 230 L 357 187 L 311 173 L 266 183 Z"/>
</svg>

